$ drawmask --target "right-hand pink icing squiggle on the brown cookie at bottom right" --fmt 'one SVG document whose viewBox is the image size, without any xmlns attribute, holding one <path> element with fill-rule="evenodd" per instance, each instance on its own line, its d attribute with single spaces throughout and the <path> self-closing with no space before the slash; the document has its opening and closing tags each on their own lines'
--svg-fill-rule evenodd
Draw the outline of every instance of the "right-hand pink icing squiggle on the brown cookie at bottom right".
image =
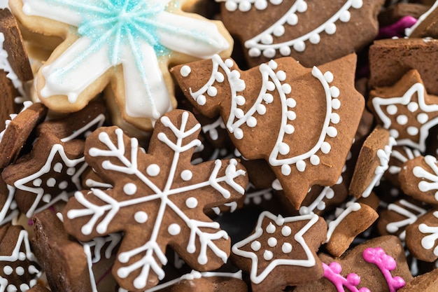
<svg viewBox="0 0 438 292">
<path fill-rule="evenodd" d="M 374 263 L 379 270 L 381 270 L 383 277 L 386 279 L 390 292 L 395 292 L 404 286 L 404 279 L 402 277 L 393 277 L 390 271 L 397 267 L 397 263 L 392 256 L 388 256 L 380 247 L 367 248 L 362 254 L 365 261 L 368 263 Z"/>
</svg>

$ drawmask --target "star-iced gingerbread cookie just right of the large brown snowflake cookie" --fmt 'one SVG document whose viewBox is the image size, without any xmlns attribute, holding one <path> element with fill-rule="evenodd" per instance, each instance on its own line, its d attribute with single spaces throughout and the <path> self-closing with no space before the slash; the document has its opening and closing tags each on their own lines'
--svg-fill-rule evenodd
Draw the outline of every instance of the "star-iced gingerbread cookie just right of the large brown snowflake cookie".
<svg viewBox="0 0 438 292">
<path fill-rule="evenodd" d="M 323 275 L 316 251 L 327 227 L 316 214 L 260 214 L 254 232 L 232 247 L 232 260 L 250 273 L 253 291 L 280 291 Z"/>
</svg>

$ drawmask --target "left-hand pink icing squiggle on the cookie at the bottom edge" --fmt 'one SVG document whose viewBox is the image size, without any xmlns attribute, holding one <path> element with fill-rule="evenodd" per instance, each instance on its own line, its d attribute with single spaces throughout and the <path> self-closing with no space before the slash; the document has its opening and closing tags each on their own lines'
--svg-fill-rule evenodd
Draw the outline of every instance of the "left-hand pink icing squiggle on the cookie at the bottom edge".
<svg viewBox="0 0 438 292">
<path fill-rule="evenodd" d="M 368 288 L 357 288 L 360 283 L 358 274 L 348 274 L 346 278 L 341 275 L 342 267 L 339 263 L 333 262 L 330 265 L 323 263 L 324 277 L 331 281 L 338 292 L 345 292 L 344 286 L 351 292 L 369 292 Z"/>
</svg>

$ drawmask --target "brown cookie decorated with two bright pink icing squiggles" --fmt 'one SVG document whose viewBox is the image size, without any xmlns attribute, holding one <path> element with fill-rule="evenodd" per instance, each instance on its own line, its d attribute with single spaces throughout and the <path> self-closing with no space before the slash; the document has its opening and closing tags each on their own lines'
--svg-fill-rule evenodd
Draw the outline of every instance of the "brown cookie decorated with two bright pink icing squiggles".
<svg viewBox="0 0 438 292">
<path fill-rule="evenodd" d="M 413 279 L 402 242 L 387 235 L 369 239 L 340 258 L 319 254 L 324 276 L 294 291 L 397 291 Z"/>
</svg>

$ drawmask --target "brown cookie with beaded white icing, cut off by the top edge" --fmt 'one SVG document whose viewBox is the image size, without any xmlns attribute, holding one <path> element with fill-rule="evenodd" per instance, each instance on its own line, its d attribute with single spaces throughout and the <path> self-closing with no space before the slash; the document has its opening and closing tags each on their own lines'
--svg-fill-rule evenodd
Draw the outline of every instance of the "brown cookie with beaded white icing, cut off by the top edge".
<svg viewBox="0 0 438 292">
<path fill-rule="evenodd" d="M 225 27 L 251 67 L 294 57 L 306 67 L 336 60 L 371 43 L 382 0 L 216 0 Z"/>
</svg>

